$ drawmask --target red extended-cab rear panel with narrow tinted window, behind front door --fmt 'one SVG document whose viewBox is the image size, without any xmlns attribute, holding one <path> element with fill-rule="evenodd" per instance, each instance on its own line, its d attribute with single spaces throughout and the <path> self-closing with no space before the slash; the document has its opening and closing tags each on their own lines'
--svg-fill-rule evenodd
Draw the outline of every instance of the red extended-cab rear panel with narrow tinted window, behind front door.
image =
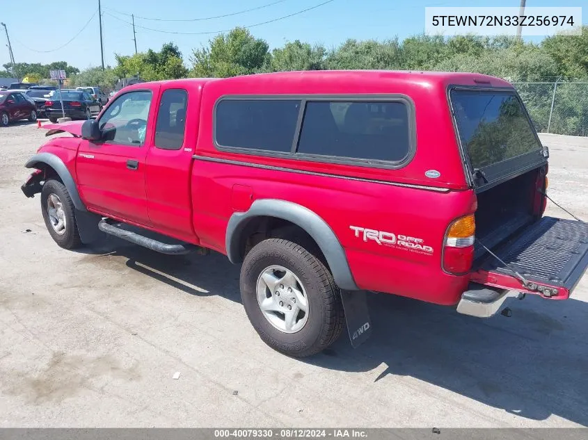
<svg viewBox="0 0 588 440">
<path fill-rule="evenodd" d="M 154 139 L 146 161 L 145 190 L 154 227 L 196 243 L 190 197 L 192 155 L 198 130 L 199 89 L 164 85 L 157 106 Z M 188 105 L 190 102 L 190 105 Z M 190 121 L 186 124 L 186 120 Z"/>
</svg>

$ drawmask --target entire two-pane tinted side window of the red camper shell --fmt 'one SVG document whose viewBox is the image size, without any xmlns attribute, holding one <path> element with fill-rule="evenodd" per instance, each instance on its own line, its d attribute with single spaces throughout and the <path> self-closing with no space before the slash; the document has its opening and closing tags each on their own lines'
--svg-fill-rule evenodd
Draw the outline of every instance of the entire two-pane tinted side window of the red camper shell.
<svg viewBox="0 0 588 440">
<path fill-rule="evenodd" d="M 411 152 L 411 127 L 404 99 L 225 97 L 214 139 L 219 149 L 251 154 L 394 166 Z"/>
</svg>

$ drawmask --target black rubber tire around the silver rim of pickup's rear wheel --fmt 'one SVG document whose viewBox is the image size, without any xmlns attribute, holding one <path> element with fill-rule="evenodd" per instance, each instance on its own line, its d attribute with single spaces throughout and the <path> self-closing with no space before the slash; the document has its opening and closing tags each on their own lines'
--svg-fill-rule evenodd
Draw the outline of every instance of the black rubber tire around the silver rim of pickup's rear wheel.
<svg viewBox="0 0 588 440">
<path fill-rule="evenodd" d="M 293 272 L 308 297 L 308 318 L 296 333 L 280 331 L 269 323 L 257 301 L 257 279 L 264 269 L 274 265 Z M 315 255 L 292 241 L 269 238 L 255 245 L 241 267 L 240 287 L 241 300 L 255 331 L 262 341 L 285 355 L 315 355 L 335 342 L 342 332 L 343 304 L 331 272 Z"/>
</svg>

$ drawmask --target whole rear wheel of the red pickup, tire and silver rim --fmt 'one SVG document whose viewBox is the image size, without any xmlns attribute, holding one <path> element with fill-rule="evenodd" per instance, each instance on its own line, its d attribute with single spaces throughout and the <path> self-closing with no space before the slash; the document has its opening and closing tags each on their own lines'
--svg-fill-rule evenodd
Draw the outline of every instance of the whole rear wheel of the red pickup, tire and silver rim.
<svg viewBox="0 0 588 440">
<path fill-rule="evenodd" d="M 241 300 L 262 341 L 294 357 L 314 355 L 340 336 L 344 313 L 331 272 L 282 238 L 255 245 L 241 267 Z"/>
</svg>

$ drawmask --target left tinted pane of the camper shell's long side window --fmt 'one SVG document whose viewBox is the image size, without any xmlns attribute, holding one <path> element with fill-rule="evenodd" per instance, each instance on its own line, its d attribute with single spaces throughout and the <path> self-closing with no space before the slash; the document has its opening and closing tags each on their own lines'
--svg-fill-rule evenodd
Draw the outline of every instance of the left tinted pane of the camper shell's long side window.
<svg viewBox="0 0 588 440">
<path fill-rule="evenodd" d="M 216 105 L 216 143 L 223 147 L 289 152 L 300 100 L 222 99 Z"/>
</svg>

